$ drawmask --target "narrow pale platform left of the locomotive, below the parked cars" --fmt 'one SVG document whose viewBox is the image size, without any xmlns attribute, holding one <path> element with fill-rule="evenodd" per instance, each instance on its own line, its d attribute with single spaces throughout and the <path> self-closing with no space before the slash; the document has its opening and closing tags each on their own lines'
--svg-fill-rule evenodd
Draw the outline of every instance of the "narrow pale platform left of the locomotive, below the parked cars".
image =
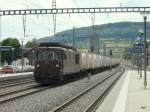
<svg viewBox="0 0 150 112">
<path fill-rule="evenodd" d="M 25 72 L 25 73 L 11 73 L 11 74 L 0 74 L 0 81 L 3 80 L 11 80 L 16 78 L 25 78 L 25 77 L 32 77 L 33 72 Z"/>
</svg>

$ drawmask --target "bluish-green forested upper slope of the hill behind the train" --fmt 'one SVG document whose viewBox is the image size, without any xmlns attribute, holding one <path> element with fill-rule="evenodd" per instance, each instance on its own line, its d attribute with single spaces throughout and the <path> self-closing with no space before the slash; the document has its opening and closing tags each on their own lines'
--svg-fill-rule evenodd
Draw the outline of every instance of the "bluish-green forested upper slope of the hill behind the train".
<svg viewBox="0 0 150 112">
<path fill-rule="evenodd" d="M 95 33 L 100 38 L 135 39 L 138 37 L 139 29 L 143 28 L 141 22 L 118 22 L 95 26 Z M 147 25 L 147 37 L 150 37 L 150 23 Z M 81 27 L 75 29 L 77 40 L 88 38 L 93 34 L 92 27 Z M 72 41 L 73 30 L 66 30 L 56 34 L 56 37 L 43 37 L 39 42 L 64 42 Z"/>
</svg>

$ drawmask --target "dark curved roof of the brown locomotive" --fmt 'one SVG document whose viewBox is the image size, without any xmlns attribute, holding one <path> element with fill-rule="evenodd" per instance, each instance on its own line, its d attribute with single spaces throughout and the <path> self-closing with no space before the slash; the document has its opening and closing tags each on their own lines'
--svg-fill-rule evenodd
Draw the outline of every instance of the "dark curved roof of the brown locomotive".
<svg viewBox="0 0 150 112">
<path fill-rule="evenodd" d="M 66 46 L 66 45 L 62 45 L 62 44 L 59 44 L 59 43 L 41 43 L 39 45 L 39 48 L 42 48 L 42 47 L 50 47 L 50 48 L 66 48 L 66 49 L 72 49 L 72 50 L 75 50 L 73 47 L 71 46 Z"/>
</svg>

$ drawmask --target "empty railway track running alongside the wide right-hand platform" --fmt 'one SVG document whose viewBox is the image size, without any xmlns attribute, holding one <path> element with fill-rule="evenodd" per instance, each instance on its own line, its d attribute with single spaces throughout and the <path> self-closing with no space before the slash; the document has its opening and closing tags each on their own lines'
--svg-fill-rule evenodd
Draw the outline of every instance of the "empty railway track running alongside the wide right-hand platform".
<svg viewBox="0 0 150 112">
<path fill-rule="evenodd" d="M 62 105 L 54 108 L 50 112 L 73 112 L 73 111 L 74 112 L 78 112 L 78 111 L 80 111 L 80 112 L 90 112 L 95 107 L 95 105 L 99 101 L 101 101 L 103 99 L 103 97 L 106 95 L 106 93 L 110 90 L 110 88 L 115 84 L 115 82 L 119 79 L 119 77 L 123 73 L 124 73 L 124 69 L 123 68 L 119 68 L 117 71 L 115 71 L 113 73 L 110 73 L 104 79 L 98 81 L 97 83 L 95 83 L 94 85 L 92 85 L 91 87 L 89 87 L 88 89 L 82 91 L 81 93 L 79 93 L 78 95 L 76 95 L 73 98 L 69 99 L 68 101 L 66 101 Z M 90 93 L 92 93 L 93 91 L 95 91 L 96 88 L 98 88 L 100 85 L 103 85 L 103 83 L 105 83 L 107 80 L 110 80 L 110 79 L 111 80 L 113 79 L 112 83 L 108 87 L 104 88 L 102 90 L 102 92 L 98 93 L 99 95 L 96 98 L 94 98 L 94 100 L 90 101 L 90 104 L 88 104 L 88 106 L 86 105 L 84 108 L 81 107 L 82 109 L 76 110 L 77 108 L 80 107 L 80 102 L 83 102 L 84 99 L 87 99 L 90 96 L 93 96 L 93 95 L 90 95 Z M 108 82 L 107 82 L 107 84 L 108 84 Z M 84 103 L 85 102 L 83 102 L 83 104 Z"/>
</svg>

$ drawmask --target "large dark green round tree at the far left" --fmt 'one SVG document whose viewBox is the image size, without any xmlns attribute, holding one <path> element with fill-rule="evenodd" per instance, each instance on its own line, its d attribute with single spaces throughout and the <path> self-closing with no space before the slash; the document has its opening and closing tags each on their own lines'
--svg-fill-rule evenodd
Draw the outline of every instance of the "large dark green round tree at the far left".
<svg viewBox="0 0 150 112">
<path fill-rule="evenodd" d="M 18 39 L 7 38 L 2 41 L 1 45 L 2 46 L 12 46 L 14 48 L 14 51 L 2 52 L 2 62 L 3 63 L 6 60 L 10 64 L 12 62 L 12 55 L 13 55 L 14 60 L 19 58 L 21 45 L 20 45 Z"/>
</svg>

